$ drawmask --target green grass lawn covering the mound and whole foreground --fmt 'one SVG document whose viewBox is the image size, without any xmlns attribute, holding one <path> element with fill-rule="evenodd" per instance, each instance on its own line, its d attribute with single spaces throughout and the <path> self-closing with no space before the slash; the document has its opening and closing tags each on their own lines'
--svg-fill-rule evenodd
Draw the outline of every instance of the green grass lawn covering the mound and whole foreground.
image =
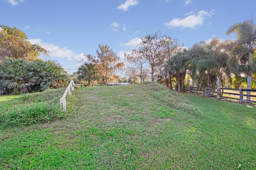
<svg viewBox="0 0 256 170">
<path fill-rule="evenodd" d="M 254 106 L 144 83 L 76 90 L 67 96 L 67 113 L 2 127 L 0 169 L 256 167 Z"/>
</svg>

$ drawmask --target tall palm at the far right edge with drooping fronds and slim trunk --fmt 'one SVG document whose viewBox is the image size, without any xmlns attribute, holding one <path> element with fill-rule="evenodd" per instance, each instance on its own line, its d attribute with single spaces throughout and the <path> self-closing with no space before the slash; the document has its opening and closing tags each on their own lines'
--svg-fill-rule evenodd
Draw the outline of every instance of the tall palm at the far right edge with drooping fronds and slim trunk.
<svg viewBox="0 0 256 170">
<path fill-rule="evenodd" d="M 226 31 L 227 35 L 235 32 L 237 35 L 237 43 L 240 45 L 240 50 L 242 58 L 244 55 L 248 54 L 246 57 L 246 62 L 242 64 L 246 64 L 246 68 L 244 71 L 247 71 L 247 89 L 251 89 L 252 86 L 252 53 L 256 49 L 256 25 L 253 23 L 252 20 L 245 20 L 242 22 L 234 23 L 231 25 L 228 30 Z M 251 92 L 247 92 L 247 95 L 250 95 Z M 250 96 L 247 96 L 247 100 L 250 100 Z"/>
</svg>

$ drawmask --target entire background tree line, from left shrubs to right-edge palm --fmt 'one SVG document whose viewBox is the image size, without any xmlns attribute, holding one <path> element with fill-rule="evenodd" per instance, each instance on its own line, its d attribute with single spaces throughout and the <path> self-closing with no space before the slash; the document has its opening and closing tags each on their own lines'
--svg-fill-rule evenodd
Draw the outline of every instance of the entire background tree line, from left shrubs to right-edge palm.
<svg viewBox="0 0 256 170">
<path fill-rule="evenodd" d="M 180 92 L 190 78 L 192 85 L 217 87 L 218 98 L 225 83 L 240 87 L 246 82 L 248 89 L 256 88 L 256 25 L 252 20 L 234 23 L 226 34 L 233 32 L 236 40 L 213 38 L 195 43 L 190 49 L 161 31 L 141 37 L 138 47 L 124 54 L 130 63 L 126 68 L 129 81 L 150 78 Z M 48 51 L 30 44 L 16 27 L 1 25 L 0 40 L 0 93 L 42 91 L 67 83 L 68 75 L 58 63 L 38 58 L 40 54 L 48 56 Z M 116 71 L 124 70 L 124 63 L 108 45 L 99 45 L 95 56 L 84 56 L 76 72 L 79 80 L 87 81 L 89 86 L 94 82 L 104 86 L 118 82 Z"/>
</svg>

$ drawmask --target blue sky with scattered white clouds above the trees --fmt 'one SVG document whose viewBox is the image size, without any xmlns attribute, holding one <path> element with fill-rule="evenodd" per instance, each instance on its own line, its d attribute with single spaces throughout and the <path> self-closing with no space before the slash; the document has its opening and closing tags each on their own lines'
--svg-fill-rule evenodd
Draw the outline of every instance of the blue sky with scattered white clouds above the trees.
<svg viewBox="0 0 256 170">
<path fill-rule="evenodd" d="M 140 37 L 158 30 L 187 48 L 213 37 L 235 39 L 226 30 L 251 13 L 256 20 L 256 0 L 0 0 L 0 25 L 26 33 L 49 51 L 43 59 L 58 61 L 69 74 L 99 44 L 123 59 Z"/>
</svg>

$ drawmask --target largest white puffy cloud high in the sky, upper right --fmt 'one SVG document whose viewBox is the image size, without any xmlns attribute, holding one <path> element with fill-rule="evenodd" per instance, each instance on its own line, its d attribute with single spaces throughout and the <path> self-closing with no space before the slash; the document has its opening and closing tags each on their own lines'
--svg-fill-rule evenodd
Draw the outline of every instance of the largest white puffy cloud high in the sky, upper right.
<svg viewBox="0 0 256 170">
<path fill-rule="evenodd" d="M 164 23 L 164 25 L 170 28 L 172 27 L 194 28 L 196 26 L 202 25 L 204 23 L 204 20 L 207 17 L 211 17 L 211 15 L 213 14 L 213 11 L 214 10 L 208 13 L 202 10 L 202 11 L 198 11 L 196 14 L 191 13 L 190 16 L 184 19 L 174 18 L 170 22 Z"/>
</svg>

